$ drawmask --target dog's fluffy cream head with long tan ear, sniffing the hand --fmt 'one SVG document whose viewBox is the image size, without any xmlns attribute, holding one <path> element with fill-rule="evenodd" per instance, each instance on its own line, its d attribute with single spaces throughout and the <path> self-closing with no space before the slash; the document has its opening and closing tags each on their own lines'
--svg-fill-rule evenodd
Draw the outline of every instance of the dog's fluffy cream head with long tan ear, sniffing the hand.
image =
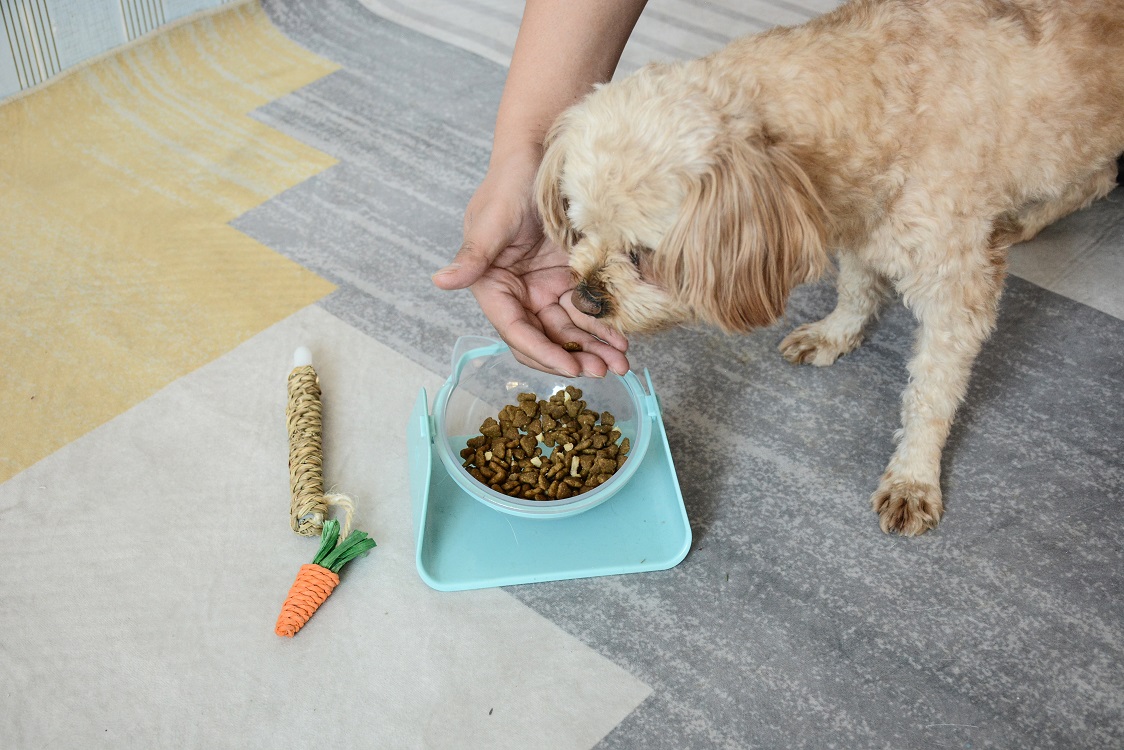
<svg viewBox="0 0 1124 750">
<path fill-rule="evenodd" d="M 697 67 L 652 65 L 562 114 L 536 197 L 578 309 L 625 333 L 747 331 L 822 272 L 815 189 L 746 100 Z"/>
</svg>

